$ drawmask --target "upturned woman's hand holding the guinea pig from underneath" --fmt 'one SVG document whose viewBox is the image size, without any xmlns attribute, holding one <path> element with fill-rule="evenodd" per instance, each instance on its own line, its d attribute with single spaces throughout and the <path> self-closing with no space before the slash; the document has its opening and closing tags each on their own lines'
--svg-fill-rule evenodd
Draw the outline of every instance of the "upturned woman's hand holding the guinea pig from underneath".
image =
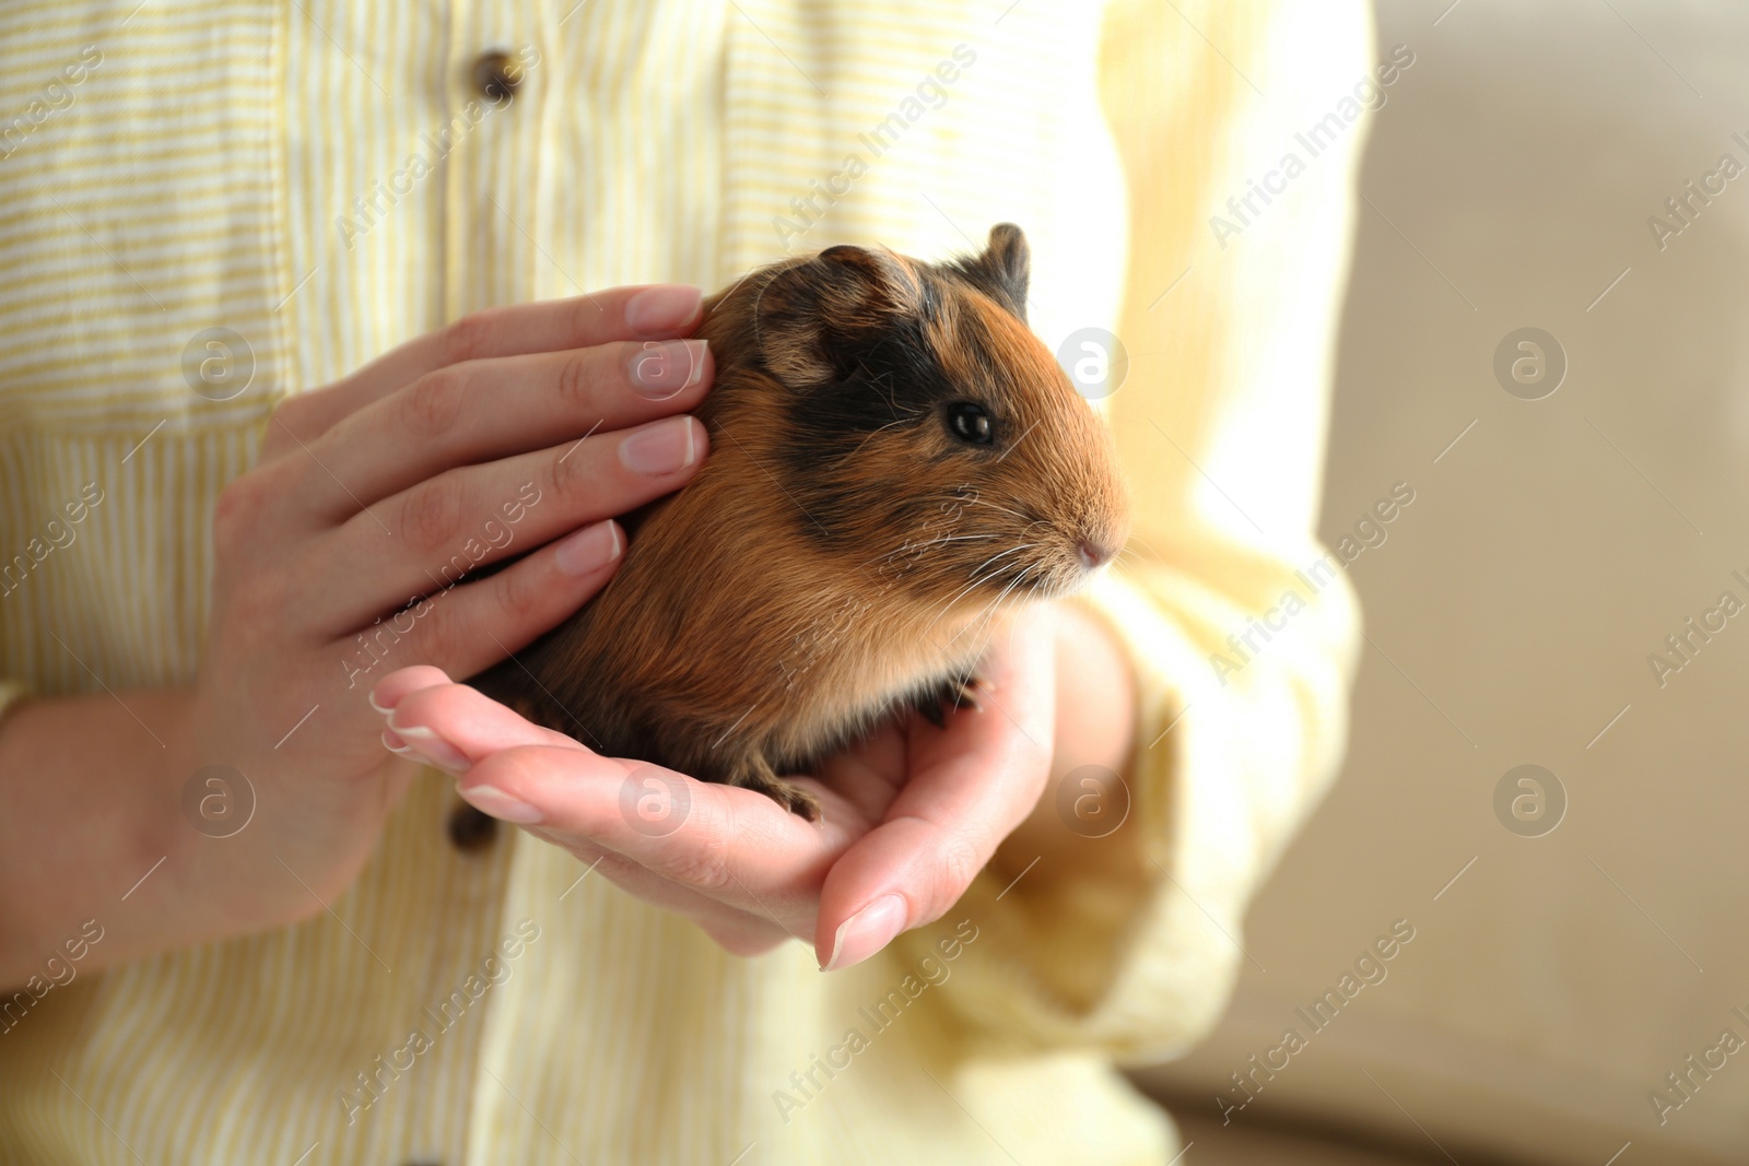
<svg viewBox="0 0 1749 1166">
<path fill-rule="evenodd" d="M 462 797 L 563 846 L 726 949 L 794 937 L 824 968 L 859 963 L 944 914 L 1032 813 L 1051 773 L 1055 615 L 1018 617 L 986 661 L 981 710 L 915 713 L 799 781 L 810 823 L 763 794 L 600 757 L 436 668 L 385 677 L 388 731 L 458 774 Z"/>
</svg>

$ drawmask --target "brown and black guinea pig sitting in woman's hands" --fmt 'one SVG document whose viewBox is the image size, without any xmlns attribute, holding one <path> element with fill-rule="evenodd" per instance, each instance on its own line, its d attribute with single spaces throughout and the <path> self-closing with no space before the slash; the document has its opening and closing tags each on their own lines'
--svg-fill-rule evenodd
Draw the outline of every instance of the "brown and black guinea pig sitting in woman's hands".
<svg viewBox="0 0 1749 1166">
<path fill-rule="evenodd" d="M 976 706 L 985 633 L 1128 531 L 1111 435 L 1027 327 L 1020 227 L 927 264 L 831 246 L 705 302 L 710 456 L 619 572 L 472 680 L 591 748 L 768 794 L 881 717 Z"/>
</svg>

